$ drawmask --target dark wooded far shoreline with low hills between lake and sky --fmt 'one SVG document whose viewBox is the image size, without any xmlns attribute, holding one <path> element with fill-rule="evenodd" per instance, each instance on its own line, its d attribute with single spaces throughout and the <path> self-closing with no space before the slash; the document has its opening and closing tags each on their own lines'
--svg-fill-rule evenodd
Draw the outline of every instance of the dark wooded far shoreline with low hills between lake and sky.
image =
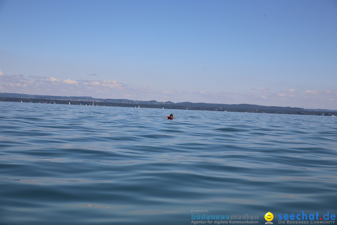
<svg viewBox="0 0 337 225">
<path fill-rule="evenodd" d="M 0 97 L 0 102 L 23 102 L 23 103 L 42 103 L 42 104 L 61 104 L 61 105 L 67 105 L 70 102 L 70 105 L 85 105 L 88 106 L 92 105 L 93 101 L 90 100 L 54 100 L 54 99 L 31 99 L 31 98 L 4 98 Z M 194 103 L 197 104 L 197 103 Z M 337 116 L 337 112 L 335 111 L 308 111 L 308 110 L 301 110 L 290 108 L 290 107 L 275 107 L 275 108 L 290 108 L 289 110 L 271 110 L 268 109 L 270 107 L 268 106 L 259 106 L 260 109 L 252 109 L 252 107 L 248 108 L 237 108 L 237 109 L 226 109 L 224 107 L 214 107 L 210 106 L 207 107 L 207 104 L 209 103 L 203 103 L 204 107 L 200 106 L 191 106 L 191 104 L 182 104 L 182 103 L 172 103 L 172 104 L 137 104 L 137 103 L 112 103 L 112 102 L 104 102 L 104 101 L 94 101 L 94 106 L 113 106 L 113 107 L 140 107 L 140 108 L 156 108 L 156 109 L 180 109 L 180 110 L 201 110 L 201 111 L 219 111 L 219 112 L 247 112 L 247 113 L 271 113 L 271 114 L 297 114 L 297 115 L 324 115 L 324 116 Z M 214 105 L 214 104 L 210 104 Z M 220 105 L 220 104 L 216 104 Z M 248 104 L 242 104 L 242 105 L 248 105 Z M 237 105 L 239 106 L 239 105 Z M 254 105 L 249 105 L 254 106 Z"/>
</svg>

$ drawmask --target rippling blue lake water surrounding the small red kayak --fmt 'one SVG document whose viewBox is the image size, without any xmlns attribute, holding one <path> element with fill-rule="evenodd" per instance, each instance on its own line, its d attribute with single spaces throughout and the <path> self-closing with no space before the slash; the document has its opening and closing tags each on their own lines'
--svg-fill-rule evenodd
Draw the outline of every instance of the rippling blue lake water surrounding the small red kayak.
<svg viewBox="0 0 337 225">
<path fill-rule="evenodd" d="M 337 213 L 336 146 L 332 116 L 0 102 L 0 224 Z"/>
</svg>

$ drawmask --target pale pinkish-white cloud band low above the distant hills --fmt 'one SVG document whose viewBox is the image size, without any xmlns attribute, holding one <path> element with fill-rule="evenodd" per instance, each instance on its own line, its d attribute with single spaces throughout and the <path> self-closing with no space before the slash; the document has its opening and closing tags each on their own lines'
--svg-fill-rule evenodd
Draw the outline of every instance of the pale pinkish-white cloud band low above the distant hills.
<svg viewBox="0 0 337 225">
<path fill-rule="evenodd" d="M 157 100 L 172 102 L 205 102 L 221 104 L 257 104 L 274 106 L 291 106 L 301 108 L 329 108 L 337 109 L 337 90 L 305 90 L 295 89 L 270 91 L 267 87 L 251 88 L 246 93 L 229 91 L 207 92 L 205 90 L 155 90 L 143 84 L 133 87 L 116 80 L 71 80 L 55 77 L 39 77 L 19 75 L 5 75 L 0 70 L 0 92 L 40 94 L 40 95 L 67 95 L 92 96 L 111 99 Z M 288 93 L 288 94 L 287 94 Z M 280 103 L 277 103 L 280 102 Z M 277 103 L 277 104 L 275 104 Z M 304 104 L 309 103 L 309 104 Z"/>
</svg>

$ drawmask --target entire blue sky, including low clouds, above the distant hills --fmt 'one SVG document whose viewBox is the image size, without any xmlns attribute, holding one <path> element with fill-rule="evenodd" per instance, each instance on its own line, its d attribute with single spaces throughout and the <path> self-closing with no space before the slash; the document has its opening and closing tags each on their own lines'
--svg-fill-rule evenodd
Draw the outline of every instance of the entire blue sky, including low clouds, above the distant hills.
<svg viewBox="0 0 337 225">
<path fill-rule="evenodd" d="M 337 1 L 0 0 L 0 92 L 337 109 Z"/>
</svg>

